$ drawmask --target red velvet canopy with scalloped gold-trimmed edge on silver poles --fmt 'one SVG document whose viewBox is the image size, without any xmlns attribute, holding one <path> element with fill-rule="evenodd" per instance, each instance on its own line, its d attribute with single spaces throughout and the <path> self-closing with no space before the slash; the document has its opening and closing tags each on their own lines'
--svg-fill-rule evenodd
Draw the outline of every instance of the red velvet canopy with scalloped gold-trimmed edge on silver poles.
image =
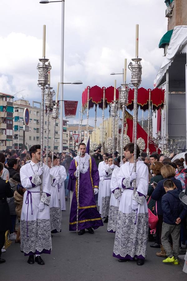
<svg viewBox="0 0 187 281">
<path fill-rule="evenodd" d="M 89 87 L 89 86 L 88 86 Z M 83 110 L 85 110 L 87 106 L 88 99 L 88 87 L 82 93 L 82 105 Z M 103 87 L 105 88 L 105 87 Z M 89 89 L 89 109 L 93 108 L 94 104 L 98 105 L 99 108 L 103 108 L 103 88 L 99 86 L 93 86 Z M 108 104 L 113 101 L 114 96 L 114 87 L 110 86 L 105 88 L 105 108 L 107 108 Z M 119 92 L 116 89 L 116 100 L 118 101 Z M 138 96 L 137 96 L 137 104 L 144 111 L 149 108 L 149 89 L 139 88 Z M 158 110 L 160 107 L 164 106 L 164 90 L 162 89 L 153 89 L 151 90 L 151 104 L 153 106 L 153 110 Z M 129 90 L 128 95 L 128 104 L 127 109 L 133 110 L 134 107 L 134 89 Z"/>
</svg>

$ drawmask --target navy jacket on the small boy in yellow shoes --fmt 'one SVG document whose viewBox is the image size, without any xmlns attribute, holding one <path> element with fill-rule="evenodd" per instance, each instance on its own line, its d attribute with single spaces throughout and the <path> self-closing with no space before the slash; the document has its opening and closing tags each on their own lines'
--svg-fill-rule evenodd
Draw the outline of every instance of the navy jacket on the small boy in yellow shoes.
<svg viewBox="0 0 187 281">
<path fill-rule="evenodd" d="M 174 224 L 177 218 L 183 220 L 187 214 L 187 209 L 183 207 L 179 199 L 180 191 L 177 189 L 168 190 L 162 196 L 163 221 L 166 224 Z"/>
</svg>

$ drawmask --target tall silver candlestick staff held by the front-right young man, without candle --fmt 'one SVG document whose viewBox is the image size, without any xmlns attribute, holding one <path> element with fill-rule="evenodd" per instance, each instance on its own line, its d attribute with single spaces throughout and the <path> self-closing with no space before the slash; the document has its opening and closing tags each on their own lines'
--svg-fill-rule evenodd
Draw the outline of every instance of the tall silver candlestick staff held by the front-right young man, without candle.
<svg viewBox="0 0 187 281">
<path fill-rule="evenodd" d="M 131 83 L 134 86 L 134 172 L 136 172 L 136 162 L 137 162 L 137 96 L 138 96 L 138 88 L 141 84 L 141 58 L 134 58 L 132 59 L 134 64 L 132 62 L 129 63 L 128 68 L 131 71 Z M 134 182 L 134 191 L 136 191 L 136 181 Z"/>
</svg>

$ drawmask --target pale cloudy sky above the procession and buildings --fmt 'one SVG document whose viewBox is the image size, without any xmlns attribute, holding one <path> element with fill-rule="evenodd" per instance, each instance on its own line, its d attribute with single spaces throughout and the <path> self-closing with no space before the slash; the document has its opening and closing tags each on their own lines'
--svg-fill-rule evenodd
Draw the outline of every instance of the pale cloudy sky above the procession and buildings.
<svg viewBox="0 0 187 281">
<path fill-rule="evenodd" d="M 51 86 L 60 82 L 61 3 L 40 4 L 38 0 L 1 0 L 0 17 L 0 92 L 21 94 L 30 102 L 41 100 L 37 86 L 38 59 L 42 57 L 42 32 L 46 24 L 46 58 L 52 69 Z M 64 85 L 64 99 L 79 101 L 87 86 L 117 87 L 122 81 L 124 58 L 135 57 L 135 29 L 139 24 L 139 57 L 142 58 L 141 86 L 153 88 L 153 81 L 163 61 L 158 48 L 167 32 L 164 0 L 65 0 L 64 82 L 81 80 L 82 85 Z M 130 71 L 127 70 L 130 82 Z M 17 100 L 15 95 L 15 100 Z M 105 117 L 108 109 L 105 110 Z M 86 123 L 86 115 L 83 116 Z M 97 126 L 102 121 L 98 110 Z M 89 112 L 94 124 L 94 109 Z"/>
</svg>

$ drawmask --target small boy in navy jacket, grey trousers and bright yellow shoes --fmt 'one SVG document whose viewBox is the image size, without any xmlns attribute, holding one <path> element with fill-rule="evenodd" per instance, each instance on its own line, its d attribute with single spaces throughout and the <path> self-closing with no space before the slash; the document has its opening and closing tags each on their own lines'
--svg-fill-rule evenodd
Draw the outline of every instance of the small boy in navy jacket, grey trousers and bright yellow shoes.
<svg viewBox="0 0 187 281">
<path fill-rule="evenodd" d="M 163 224 L 161 241 L 165 249 L 167 258 L 163 263 L 179 264 L 179 240 L 180 240 L 180 223 L 187 214 L 187 210 L 180 202 L 180 191 L 175 188 L 172 180 L 165 180 L 164 189 L 166 194 L 162 196 Z M 168 241 L 171 234 L 173 240 L 173 250 Z"/>
</svg>

